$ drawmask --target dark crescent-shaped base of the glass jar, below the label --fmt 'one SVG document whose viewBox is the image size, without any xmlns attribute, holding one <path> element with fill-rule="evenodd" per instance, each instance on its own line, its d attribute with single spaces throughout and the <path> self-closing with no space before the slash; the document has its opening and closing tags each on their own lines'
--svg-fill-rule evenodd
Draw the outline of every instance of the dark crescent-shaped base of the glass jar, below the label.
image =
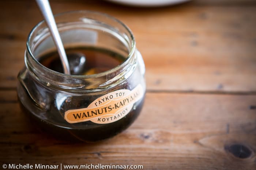
<svg viewBox="0 0 256 170">
<path fill-rule="evenodd" d="M 54 124 L 48 123 L 31 113 L 19 100 L 19 104 L 24 113 L 29 116 L 31 123 L 42 133 L 50 134 L 53 138 L 68 141 L 68 142 L 86 142 L 94 143 L 98 141 L 103 141 L 105 139 L 114 137 L 115 135 L 121 133 L 127 129 L 134 120 L 138 117 L 142 106 L 144 103 L 144 98 L 139 101 L 136 110 L 129 112 L 124 118 L 117 120 L 113 123 L 102 124 L 102 126 L 97 126 L 95 128 L 88 129 L 71 129 L 56 126 Z"/>
</svg>

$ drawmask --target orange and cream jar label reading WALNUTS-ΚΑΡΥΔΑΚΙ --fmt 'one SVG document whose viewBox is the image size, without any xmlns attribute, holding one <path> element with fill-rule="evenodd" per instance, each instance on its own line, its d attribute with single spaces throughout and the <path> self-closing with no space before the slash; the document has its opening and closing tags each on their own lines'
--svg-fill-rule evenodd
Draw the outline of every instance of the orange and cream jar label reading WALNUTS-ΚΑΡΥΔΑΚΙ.
<svg viewBox="0 0 256 170">
<path fill-rule="evenodd" d="M 127 115 L 133 104 L 144 94 L 139 84 L 133 90 L 122 89 L 110 92 L 94 100 L 87 108 L 65 111 L 65 120 L 69 123 L 91 121 L 94 123 L 112 123 Z"/>
</svg>

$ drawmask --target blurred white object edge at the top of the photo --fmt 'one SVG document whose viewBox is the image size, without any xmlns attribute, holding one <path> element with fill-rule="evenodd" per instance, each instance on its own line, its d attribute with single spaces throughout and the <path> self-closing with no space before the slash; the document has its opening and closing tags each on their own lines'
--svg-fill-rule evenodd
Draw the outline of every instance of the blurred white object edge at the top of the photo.
<svg viewBox="0 0 256 170">
<path fill-rule="evenodd" d="M 141 6 L 141 7 L 160 7 L 165 5 L 174 5 L 190 0 L 108 0 L 118 4 Z"/>
</svg>

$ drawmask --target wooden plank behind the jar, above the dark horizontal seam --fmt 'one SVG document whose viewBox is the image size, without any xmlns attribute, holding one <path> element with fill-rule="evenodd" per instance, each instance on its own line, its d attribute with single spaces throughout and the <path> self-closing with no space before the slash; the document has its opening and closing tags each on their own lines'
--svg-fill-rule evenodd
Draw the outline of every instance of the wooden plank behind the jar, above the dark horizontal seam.
<svg viewBox="0 0 256 170">
<path fill-rule="evenodd" d="M 0 87 L 15 88 L 26 36 L 42 17 L 32 1 L 3 3 Z M 146 64 L 148 90 L 256 91 L 255 5 L 189 3 L 141 9 L 101 3 L 52 1 L 51 5 L 54 13 L 89 9 L 106 12 L 127 24 Z"/>
</svg>

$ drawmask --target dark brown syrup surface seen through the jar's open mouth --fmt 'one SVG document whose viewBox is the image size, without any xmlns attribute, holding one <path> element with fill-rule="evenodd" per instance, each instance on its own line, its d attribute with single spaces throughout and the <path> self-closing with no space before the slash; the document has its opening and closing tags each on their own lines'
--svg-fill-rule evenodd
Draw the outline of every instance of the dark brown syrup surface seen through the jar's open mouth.
<svg viewBox="0 0 256 170">
<path fill-rule="evenodd" d="M 78 72 L 75 73 L 75 75 L 98 74 L 118 66 L 125 60 L 122 55 L 105 49 L 71 48 L 66 49 L 65 52 L 67 54 L 71 74 Z M 57 51 L 40 57 L 39 62 L 51 70 L 63 73 L 63 67 L 61 66 Z M 76 68 L 79 64 L 80 68 L 78 69 L 80 71 L 72 71 L 77 70 Z"/>
</svg>

